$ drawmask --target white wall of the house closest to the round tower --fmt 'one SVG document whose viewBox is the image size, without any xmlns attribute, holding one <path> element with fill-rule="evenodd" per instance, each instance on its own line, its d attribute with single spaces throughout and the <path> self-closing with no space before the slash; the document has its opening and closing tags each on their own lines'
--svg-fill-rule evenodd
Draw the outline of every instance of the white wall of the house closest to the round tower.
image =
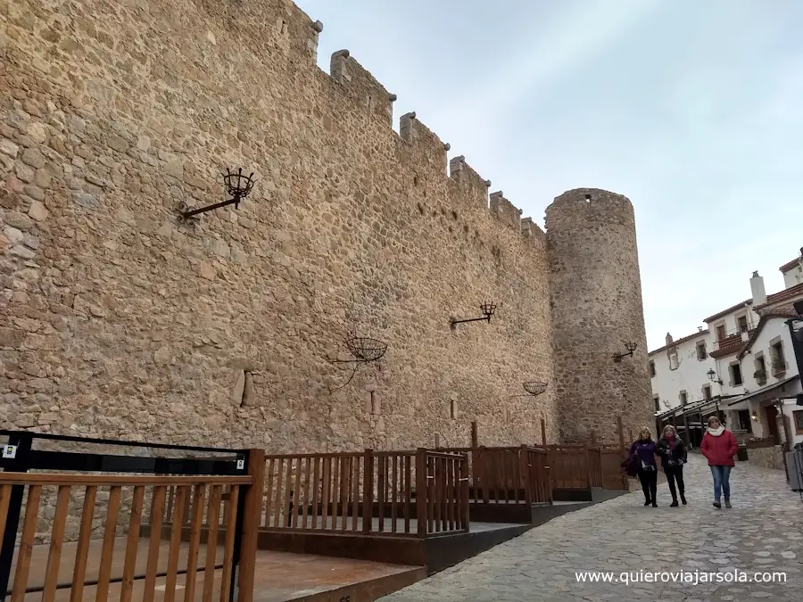
<svg viewBox="0 0 803 602">
<path fill-rule="evenodd" d="M 706 343 L 706 359 L 697 359 L 697 343 Z M 653 352 L 650 360 L 655 362 L 656 375 L 651 379 L 653 397 L 658 395 L 661 400 L 660 411 L 677 408 L 681 405 L 680 392 L 686 392 L 687 403 L 703 399 L 702 387 L 711 385 L 711 395 L 717 394 L 716 383 L 708 380 L 708 370 L 715 367 L 714 359 L 708 355 L 712 350 L 713 336 L 710 333 L 700 333 L 689 341 L 678 344 L 671 350 L 677 350 L 677 369 L 669 366 L 669 350 Z M 666 407 L 665 401 L 669 402 Z"/>
</svg>

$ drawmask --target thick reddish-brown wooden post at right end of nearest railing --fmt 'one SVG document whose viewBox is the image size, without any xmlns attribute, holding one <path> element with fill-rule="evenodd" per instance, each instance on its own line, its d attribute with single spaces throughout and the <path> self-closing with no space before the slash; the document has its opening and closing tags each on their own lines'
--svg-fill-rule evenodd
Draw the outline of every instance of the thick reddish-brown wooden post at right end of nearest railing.
<svg viewBox="0 0 803 602">
<path fill-rule="evenodd" d="M 237 602 L 253 602 L 253 574 L 256 569 L 257 536 L 260 532 L 262 497 L 264 496 L 265 450 L 249 449 L 248 474 L 250 485 L 244 487 L 243 531 L 240 539 L 240 566 Z M 228 583 L 221 583 L 228 587 Z"/>
</svg>

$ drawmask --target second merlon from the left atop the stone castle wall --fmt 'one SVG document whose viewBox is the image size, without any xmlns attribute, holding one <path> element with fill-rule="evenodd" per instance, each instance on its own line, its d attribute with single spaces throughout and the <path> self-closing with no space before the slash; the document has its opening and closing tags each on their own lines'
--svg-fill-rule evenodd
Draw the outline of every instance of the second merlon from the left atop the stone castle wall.
<svg viewBox="0 0 803 602">
<path fill-rule="evenodd" d="M 357 111 L 366 111 L 381 122 L 393 125 L 393 101 L 396 95 L 389 93 L 348 50 L 332 53 L 329 74 L 355 101 Z"/>
</svg>

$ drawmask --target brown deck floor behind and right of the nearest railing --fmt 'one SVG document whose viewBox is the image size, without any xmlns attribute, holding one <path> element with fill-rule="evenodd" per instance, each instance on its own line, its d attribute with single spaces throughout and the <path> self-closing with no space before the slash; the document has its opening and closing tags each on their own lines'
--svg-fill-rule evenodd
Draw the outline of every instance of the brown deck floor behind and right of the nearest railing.
<svg viewBox="0 0 803 602">
<path fill-rule="evenodd" d="M 93 540 L 89 547 L 87 560 L 87 585 L 84 588 L 82 599 L 95 600 L 97 580 L 100 565 L 101 540 Z M 120 537 L 115 542 L 112 561 L 112 580 L 122 576 L 122 562 L 125 552 L 126 538 Z M 159 570 L 163 573 L 167 567 L 167 553 L 170 542 L 162 542 L 160 548 Z M 39 602 L 42 599 L 41 588 L 45 582 L 45 569 L 49 546 L 37 545 L 33 548 L 31 567 L 29 573 L 29 593 L 25 602 Z M 186 568 L 186 554 L 188 545 L 184 544 L 179 557 L 179 570 Z M 146 542 L 139 547 L 140 555 L 137 557 L 137 576 L 145 575 L 147 558 Z M 222 546 L 218 549 L 218 557 L 222 557 Z M 75 562 L 75 543 L 65 543 L 62 548 L 62 558 L 59 565 L 59 583 L 65 587 L 57 590 L 54 602 L 70 601 L 70 581 L 72 567 Z M 205 546 L 199 554 L 199 566 L 203 566 L 206 558 Z M 16 562 L 16 555 L 14 558 Z M 12 566 L 12 575 L 15 566 Z M 215 571 L 213 599 L 219 599 L 220 569 Z M 339 601 L 341 598 L 350 598 L 352 602 L 369 602 L 381 598 L 395 590 L 400 590 L 411 583 L 419 581 L 426 576 L 421 566 L 392 565 L 368 560 L 322 557 L 310 554 L 292 554 L 287 552 L 274 552 L 259 550 L 256 557 L 256 571 L 254 579 L 254 602 L 329 602 Z M 198 571 L 195 578 L 195 598 L 201 597 L 205 573 Z M 134 581 L 133 598 L 143 598 L 145 579 Z M 186 588 L 186 574 L 178 575 L 176 589 L 177 599 L 184 599 Z M 156 580 L 156 593 L 154 600 L 164 599 L 165 578 Z M 112 582 L 109 588 L 110 601 L 120 599 L 120 582 Z"/>
</svg>

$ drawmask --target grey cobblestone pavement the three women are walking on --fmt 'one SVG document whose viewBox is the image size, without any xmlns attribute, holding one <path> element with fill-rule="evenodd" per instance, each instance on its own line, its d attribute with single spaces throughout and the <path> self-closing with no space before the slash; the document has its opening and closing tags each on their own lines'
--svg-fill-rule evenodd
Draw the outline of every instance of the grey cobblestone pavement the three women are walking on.
<svg viewBox="0 0 803 602">
<path fill-rule="evenodd" d="M 560 516 L 515 540 L 419 581 L 386 602 L 567 602 L 661 600 L 803 601 L 803 501 L 782 471 L 739 462 L 731 473 L 733 508 L 716 509 L 703 458 L 684 468 L 686 507 L 658 508 L 641 491 Z M 575 572 L 784 572 L 786 582 L 578 582 Z M 698 575 L 699 575 L 698 573 Z M 677 575 L 675 575 L 677 576 Z M 683 577 L 681 577 L 683 578 Z"/>
</svg>

